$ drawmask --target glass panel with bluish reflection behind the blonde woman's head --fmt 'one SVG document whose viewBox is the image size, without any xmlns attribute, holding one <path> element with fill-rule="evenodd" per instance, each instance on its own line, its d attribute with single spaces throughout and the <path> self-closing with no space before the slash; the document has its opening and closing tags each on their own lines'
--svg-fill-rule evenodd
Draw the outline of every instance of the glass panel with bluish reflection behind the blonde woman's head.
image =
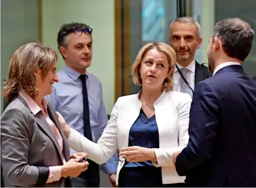
<svg viewBox="0 0 256 188">
<path fill-rule="evenodd" d="M 130 0 L 130 66 L 139 49 L 147 42 L 161 41 L 169 44 L 170 23 L 177 17 L 175 0 Z M 126 86 L 125 86 L 126 87 Z M 140 87 L 130 79 L 129 93 Z"/>
</svg>

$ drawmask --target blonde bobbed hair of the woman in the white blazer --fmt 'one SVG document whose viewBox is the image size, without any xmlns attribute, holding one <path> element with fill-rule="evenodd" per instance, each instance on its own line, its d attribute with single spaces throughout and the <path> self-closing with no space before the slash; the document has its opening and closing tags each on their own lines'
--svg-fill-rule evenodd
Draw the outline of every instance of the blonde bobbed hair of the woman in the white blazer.
<svg viewBox="0 0 256 188">
<path fill-rule="evenodd" d="M 167 55 L 167 59 L 169 62 L 169 72 L 172 71 L 169 75 L 169 77 L 165 78 L 163 83 L 163 89 L 165 91 L 170 91 L 173 89 L 174 86 L 174 67 L 176 63 L 176 54 L 174 49 L 170 47 L 170 45 L 165 44 L 163 42 L 150 42 L 148 44 L 145 44 L 140 50 L 139 53 L 132 64 L 132 78 L 134 80 L 135 85 L 142 86 L 142 79 L 140 77 L 140 65 L 142 60 L 145 57 L 145 54 L 149 52 L 149 50 L 156 49 L 159 52 L 163 52 L 165 55 Z"/>
</svg>

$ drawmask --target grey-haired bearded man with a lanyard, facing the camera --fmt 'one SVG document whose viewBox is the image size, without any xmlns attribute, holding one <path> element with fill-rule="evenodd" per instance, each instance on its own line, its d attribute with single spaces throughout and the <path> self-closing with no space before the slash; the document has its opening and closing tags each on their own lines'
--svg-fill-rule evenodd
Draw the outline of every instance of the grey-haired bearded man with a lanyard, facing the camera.
<svg viewBox="0 0 256 188">
<path fill-rule="evenodd" d="M 204 63 L 195 60 L 195 51 L 202 43 L 200 24 L 192 17 L 175 19 L 170 24 L 169 42 L 177 55 L 174 91 L 188 93 L 192 97 L 195 85 L 212 76 Z"/>
</svg>

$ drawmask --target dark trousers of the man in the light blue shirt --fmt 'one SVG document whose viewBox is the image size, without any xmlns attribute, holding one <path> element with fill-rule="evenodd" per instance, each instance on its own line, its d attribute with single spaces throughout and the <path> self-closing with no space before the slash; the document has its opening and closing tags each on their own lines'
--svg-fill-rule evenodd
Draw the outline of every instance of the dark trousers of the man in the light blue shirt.
<svg viewBox="0 0 256 188">
<path fill-rule="evenodd" d="M 72 178 L 73 187 L 99 187 L 99 164 L 87 159 L 89 166 L 87 171 L 82 172 L 78 177 Z"/>
</svg>

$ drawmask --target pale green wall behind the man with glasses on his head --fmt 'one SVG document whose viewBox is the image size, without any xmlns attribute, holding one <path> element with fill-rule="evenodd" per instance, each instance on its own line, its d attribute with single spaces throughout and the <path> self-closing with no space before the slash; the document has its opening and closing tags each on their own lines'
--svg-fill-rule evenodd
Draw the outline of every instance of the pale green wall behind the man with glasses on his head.
<svg viewBox="0 0 256 188">
<path fill-rule="evenodd" d="M 42 42 L 57 50 L 62 24 L 84 22 L 92 27 L 93 55 L 88 72 L 102 83 L 107 113 L 114 106 L 114 0 L 42 0 Z M 64 67 L 61 54 L 57 68 Z"/>
</svg>

